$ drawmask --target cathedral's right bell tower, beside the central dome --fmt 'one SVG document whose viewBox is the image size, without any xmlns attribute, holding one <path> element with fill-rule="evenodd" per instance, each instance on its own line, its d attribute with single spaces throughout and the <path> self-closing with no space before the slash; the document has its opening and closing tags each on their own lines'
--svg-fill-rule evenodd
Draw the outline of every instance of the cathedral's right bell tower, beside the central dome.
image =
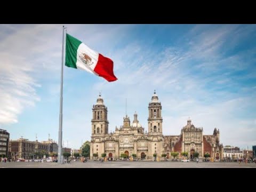
<svg viewBox="0 0 256 192">
<path fill-rule="evenodd" d="M 148 106 L 148 133 L 162 135 L 162 123 L 162 106 L 161 102 L 158 101 L 156 91 L 154 91 L 151 102 Z"/>
</svg>

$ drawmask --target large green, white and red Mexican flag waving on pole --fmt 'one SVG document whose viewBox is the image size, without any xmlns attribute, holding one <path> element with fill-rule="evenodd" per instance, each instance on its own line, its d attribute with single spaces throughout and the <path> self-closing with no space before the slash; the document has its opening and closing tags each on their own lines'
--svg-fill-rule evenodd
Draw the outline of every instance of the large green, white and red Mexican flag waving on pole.
<svg viewBox="0 0 256 192">
<path fill-rule="evenodd" d="M 67 34 L 66 63 L 67 67 L 86 70 L 92 74 L 105 78 L 108 82 L 116 81 L 114 63 L 111 59 L 90 49 L 83 42 Z"/>
</svg>

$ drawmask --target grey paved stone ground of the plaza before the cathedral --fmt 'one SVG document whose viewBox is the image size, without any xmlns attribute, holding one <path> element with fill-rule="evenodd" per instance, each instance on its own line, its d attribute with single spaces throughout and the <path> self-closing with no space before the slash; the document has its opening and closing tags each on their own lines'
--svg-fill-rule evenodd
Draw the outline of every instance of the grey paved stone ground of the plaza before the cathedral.
<svg viewBox="0 0 256 192">
<path fill-rule="evenodd" d="M 57 163 L 38 162 L 11 162 L 0 163 L 0 168 L 256 168 L 256 163 L 210 163 L 210 162 L 71 162 L 70 164 L 59 165 Z"/>
</svg>

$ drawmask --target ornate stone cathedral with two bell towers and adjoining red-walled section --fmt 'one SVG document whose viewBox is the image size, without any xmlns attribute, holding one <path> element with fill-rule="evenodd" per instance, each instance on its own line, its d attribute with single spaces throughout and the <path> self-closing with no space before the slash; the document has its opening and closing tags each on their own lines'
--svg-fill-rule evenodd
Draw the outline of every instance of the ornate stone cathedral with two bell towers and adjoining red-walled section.
<svg viewBox="0 0 256 192">
<path fill-rule="evenodd" d="M 138 120 L 135 112 L 133 121 L 126 115 L 123 125 L 114 133 L 108 132 L 108 109 L 104 105 L 101 95 L 92 108 L 92 137 L 90 144 L 90 158 L 93 154 L 106 154 L 107 157 L 119 158 L 121 154 L 138 158 L 152 159 L 153 155 L 161 157 L 166 154 L 171 158 L 171 152 L 187 152 L 192 158 L 195 152 L 199 157 L 210 154 L 210 157 L 221 159 L 223 146 L 220 144 L 220 132 L 216 128 L 212 135 L 203 135 L 203 128 L 195 127 L 188 119 L 187 125 L 182 127 L 180 135 L 163 135 L 162 105 L 154 92 L 148 106 L 148 131 Z"/>
</svg>

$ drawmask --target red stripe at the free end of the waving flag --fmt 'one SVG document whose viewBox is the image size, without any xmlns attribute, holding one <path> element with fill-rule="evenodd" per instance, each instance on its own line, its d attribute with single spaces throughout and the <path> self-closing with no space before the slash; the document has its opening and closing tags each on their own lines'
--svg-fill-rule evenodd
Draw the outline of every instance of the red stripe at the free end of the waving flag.
<svg viewBox="0 0 256 192">
<path fill-rule="evenodd" d="M 94 68 L 95 73 L 97 73 L 100 77 L 105 78 L 108 82 L 113 82 L 117 80 L 116 76 L 114 75 L 113 68 L 113 61 L 99 53 L 99 59 Z"/>
</svg>

